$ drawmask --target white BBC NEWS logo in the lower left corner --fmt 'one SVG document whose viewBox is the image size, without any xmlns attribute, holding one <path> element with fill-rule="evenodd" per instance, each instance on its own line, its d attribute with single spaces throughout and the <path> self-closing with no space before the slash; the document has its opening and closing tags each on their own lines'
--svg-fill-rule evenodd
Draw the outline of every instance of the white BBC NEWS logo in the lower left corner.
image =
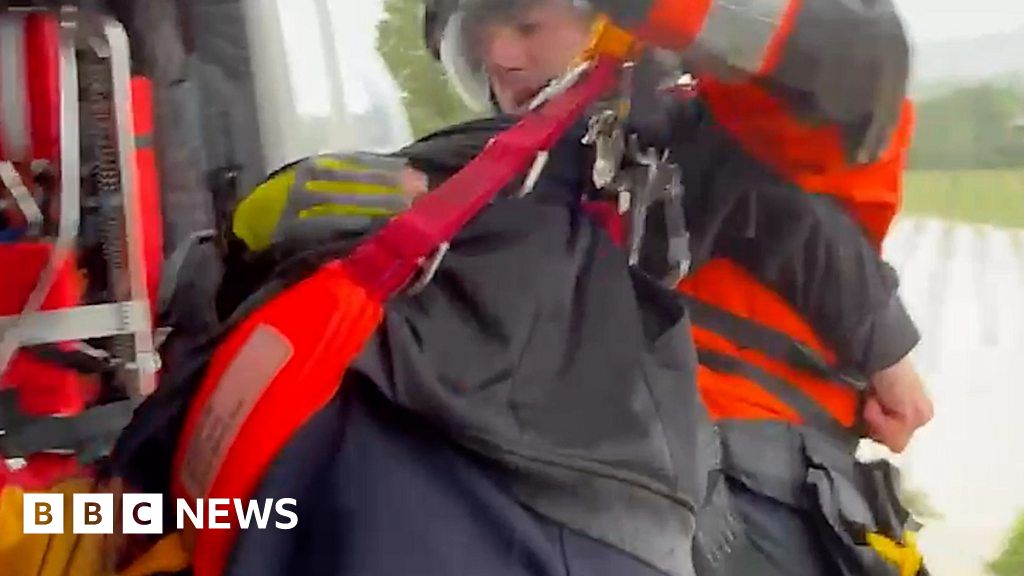
<svg viewBox="0 0 1024 576">
<path fill-rule="evenodd" d="M 66 512 L 63 494 L 25 494 L 23 528 L 26 534 L 63 534 Z M 227 530 L 230 520 L 242 530 L 292 530 L 299 524 L 294 498 L 280 500 L 241 500 L 239 498 L 199 498 L 189 502 L 175 500 L 175 526 L 206 530 Z M 120 515 L 114 494 L 73 494 L 72 532 L 74 534 L 114 534 L 114 521 L 120 516 L 121 534 L 161 534 L 164 530 L 164 499 L 160 494 L 123 494 Z M 273 522 L 271 522 L 273 521 Z"/>
</svg>

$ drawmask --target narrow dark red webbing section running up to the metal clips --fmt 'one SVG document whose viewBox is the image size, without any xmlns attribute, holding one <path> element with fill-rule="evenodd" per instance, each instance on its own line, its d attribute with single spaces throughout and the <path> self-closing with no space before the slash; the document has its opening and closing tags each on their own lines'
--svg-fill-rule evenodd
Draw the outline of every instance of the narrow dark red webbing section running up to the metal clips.
<svg viewBox="0 0 1024 576">
<path fill-rule="evenodd" d="M 615 86 L 620 65 L 611 57 L 599 58 L 586 78 L 499 134 L 457 174 L 391 219 L 345 259 L 353 278 L 382 299 L 400 290 L 424 259 Z"/>
</svg>

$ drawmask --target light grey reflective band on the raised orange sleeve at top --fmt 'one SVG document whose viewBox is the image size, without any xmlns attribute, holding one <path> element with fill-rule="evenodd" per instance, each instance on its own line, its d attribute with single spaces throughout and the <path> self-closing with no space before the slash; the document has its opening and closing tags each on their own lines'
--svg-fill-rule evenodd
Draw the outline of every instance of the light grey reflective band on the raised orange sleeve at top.
<svg viewBox="0 0 1024 576">
<path fill-rule="evenodd" d="M 713 0 L 694 47 L 748 74 L 761 70 L 791 0 Z"/>
</svg>

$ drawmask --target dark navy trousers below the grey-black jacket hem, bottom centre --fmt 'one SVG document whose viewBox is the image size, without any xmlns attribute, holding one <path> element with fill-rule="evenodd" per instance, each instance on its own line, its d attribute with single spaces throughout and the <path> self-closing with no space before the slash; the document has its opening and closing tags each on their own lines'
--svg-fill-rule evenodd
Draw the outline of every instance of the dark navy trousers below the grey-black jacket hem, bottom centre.
<svg viewBox="0 0 1024 576">
<path fill-rule="evenodd" d="M 369 386 L 317 414 L 256 498 L 295 530 L 244 531 L 229 576 L 665 576 L 524 508 L 498 475 Z"/>
</svg>

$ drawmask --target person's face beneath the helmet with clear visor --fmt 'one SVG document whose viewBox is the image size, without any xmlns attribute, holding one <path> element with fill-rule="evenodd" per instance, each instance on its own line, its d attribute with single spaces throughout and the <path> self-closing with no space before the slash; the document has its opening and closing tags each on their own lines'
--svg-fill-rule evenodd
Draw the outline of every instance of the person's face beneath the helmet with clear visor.
<svg viewBox="0 0 1024 576">
<path fill-rule="evenodd" d="M 517 113 L 563 74 L 590 41 L 590 20 L 569 2 L 546 0 L 480 27 L 475 42 L 502 112 Z"/>
</svg>

